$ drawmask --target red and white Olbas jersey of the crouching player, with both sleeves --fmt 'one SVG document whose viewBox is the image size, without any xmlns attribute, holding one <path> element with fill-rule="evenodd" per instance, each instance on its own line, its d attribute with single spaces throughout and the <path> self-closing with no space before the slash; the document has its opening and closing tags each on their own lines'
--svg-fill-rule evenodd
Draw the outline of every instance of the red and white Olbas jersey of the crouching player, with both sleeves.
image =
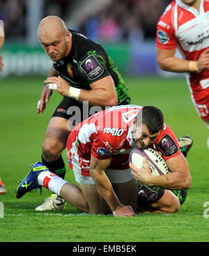
<svg viewBox="0 0 209 256">
<path fill-rule="evenodd" d="M 68 137 L 67 150 L 70 168 L 79 164 L 82 175 L 90 176 L 91 155 L 97 159 L 109 159 L 109 169 L 128 169 L 130 150 L 136 147 L 132 137 L 132 121 L 141 106 L 115 106 L 101 111 L 80 123 Z M 157 151 L 167 160 L 179 155 L 178 141 L 173 131 L 164 125 L 157 137 Z"/>
</svg>

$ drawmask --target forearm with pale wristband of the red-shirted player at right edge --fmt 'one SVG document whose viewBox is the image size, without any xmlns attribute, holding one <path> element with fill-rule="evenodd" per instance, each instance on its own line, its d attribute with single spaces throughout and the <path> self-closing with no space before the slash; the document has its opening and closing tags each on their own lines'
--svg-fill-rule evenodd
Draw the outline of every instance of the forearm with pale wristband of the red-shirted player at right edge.
<svg viewBox="0 0 209 256">
<path fill-rule="evenodd" d="M 160 69 L 164 71 L 185 73 L 197 71 L 194 62 L 177 57 L 167 57 L 164 59 L 157 59 Z"/>
</svg>

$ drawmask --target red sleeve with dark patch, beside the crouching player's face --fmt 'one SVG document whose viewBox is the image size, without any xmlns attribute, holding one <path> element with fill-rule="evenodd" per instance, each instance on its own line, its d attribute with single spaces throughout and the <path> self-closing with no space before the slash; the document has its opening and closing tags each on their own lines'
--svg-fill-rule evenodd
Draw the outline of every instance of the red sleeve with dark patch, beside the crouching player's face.
<svg viewBox="0 0 209 256">
<path fill-rule="evenodd" d="M 155 143 L 155 145 L 157 145 L 157 150 L 162 153 L 164 161 L 182 154 L 175 134 L 166 124 L 164 124 L 164 128 L 160 132 L 160 136 L 157 137 Z"/>
</svg>

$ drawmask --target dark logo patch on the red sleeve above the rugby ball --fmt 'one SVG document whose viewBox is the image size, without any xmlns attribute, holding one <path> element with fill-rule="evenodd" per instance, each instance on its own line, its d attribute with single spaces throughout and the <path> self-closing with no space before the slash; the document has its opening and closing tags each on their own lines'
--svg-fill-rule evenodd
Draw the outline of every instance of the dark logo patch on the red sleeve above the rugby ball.
<svg viewBox="0 0 209 256">
<path fill-rule="evenodd" d="M 176 145 L 175 141 L 173 141 L 173 138 L 169 136 L 169 134 L 166 134 L 162 138 L 160 143 L 157 144 L 157 146 L 162 149 L 167 157 L 174 155 L 176 152 L 178 152 L 178 146 Z"/>
</svg>

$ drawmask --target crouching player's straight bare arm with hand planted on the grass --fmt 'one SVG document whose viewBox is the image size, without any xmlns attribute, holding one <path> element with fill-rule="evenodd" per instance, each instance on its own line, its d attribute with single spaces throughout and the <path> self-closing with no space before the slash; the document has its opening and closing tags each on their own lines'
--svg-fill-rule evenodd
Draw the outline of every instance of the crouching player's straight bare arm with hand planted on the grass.
<svg viewBox="0 0 209 256">
<path fill-rule="evenodd" d="M 111 159 L 96 159 L 91 155 L 90 173 L 95 180 L 95 184 L 98 187 L 98 192 L 102 195 L 104 200 L 111 208 L 115 217 L 132 217 L 135 215 L 131 206 L 125 206 L 121 204 L 116 196 L 113 187 L 104 172 L 109 166 Z"/>
</svg>

